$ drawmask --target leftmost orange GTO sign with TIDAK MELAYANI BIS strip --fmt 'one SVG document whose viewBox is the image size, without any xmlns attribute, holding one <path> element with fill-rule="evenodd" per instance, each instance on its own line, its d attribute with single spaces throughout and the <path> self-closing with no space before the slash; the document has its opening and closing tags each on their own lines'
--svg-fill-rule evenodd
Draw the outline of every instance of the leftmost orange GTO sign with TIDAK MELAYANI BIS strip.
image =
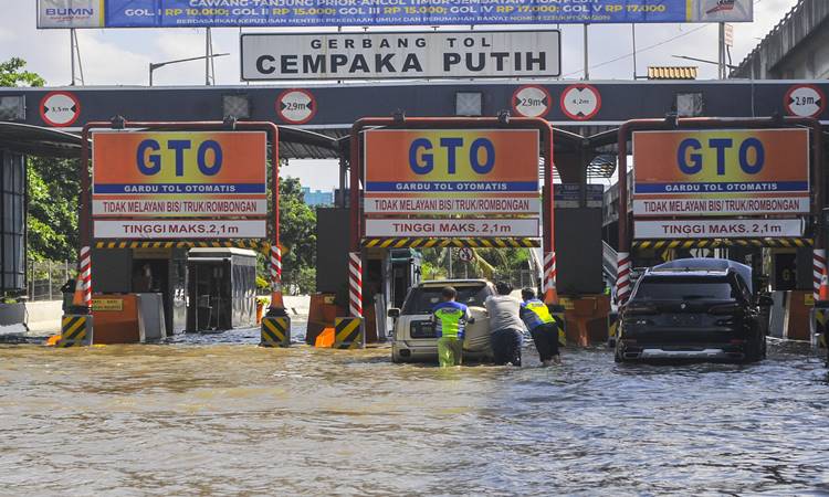
<svg viewBox="0 0 829 497">
<path fill-rule="evenodd" d="M 93 218 L 264 218 L 265 147 L 259 131 L 95 133 Z"/>
</svg>

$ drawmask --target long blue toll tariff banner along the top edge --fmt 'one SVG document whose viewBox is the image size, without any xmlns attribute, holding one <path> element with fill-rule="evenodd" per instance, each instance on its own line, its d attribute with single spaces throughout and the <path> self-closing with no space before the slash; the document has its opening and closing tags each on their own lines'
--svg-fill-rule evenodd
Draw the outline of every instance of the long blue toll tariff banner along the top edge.
<svg viewBox="0 0 829 497">
<path fill-rule="evenodd" d="M 751 22 L 753 0 L 39 0 L 38 28 Z"/>
</svg>

